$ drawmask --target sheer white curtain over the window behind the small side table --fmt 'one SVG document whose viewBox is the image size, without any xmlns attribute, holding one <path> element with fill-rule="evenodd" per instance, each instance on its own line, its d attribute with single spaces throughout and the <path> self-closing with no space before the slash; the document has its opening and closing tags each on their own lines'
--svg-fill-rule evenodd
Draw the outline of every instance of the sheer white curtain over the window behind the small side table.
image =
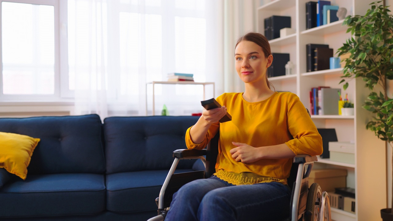
<svg viewBox="0 0 393 221">
<path fill-rule="evenodd" d="M 152 114 L 151 81 L 194 74 L 224 92 L 223 0 L 68 0 L 75 114 Z M 201 112 L 201 85 L 156 85 L 155 114 Z M 213 87 L 206 86 L 206 99 Z M 146 108 L 147 107 L 147 108 Z"/>
</svg>

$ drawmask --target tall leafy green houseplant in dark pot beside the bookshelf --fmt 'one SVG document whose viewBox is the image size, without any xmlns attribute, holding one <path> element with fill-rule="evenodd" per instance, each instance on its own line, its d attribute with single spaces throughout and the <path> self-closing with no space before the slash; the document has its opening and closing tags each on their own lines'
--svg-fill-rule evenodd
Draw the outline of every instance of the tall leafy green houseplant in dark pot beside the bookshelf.
<svg viewBox="0 0 393 221">
<path fill-rule="evenodd" d="M 393 99 L 387 94 L 387 81 L 393 79 L 393 16 L 381 2 L 371 3 L 364 16 L 345 18 L 343 25 L 349 26 L 347 32 L 353 37 L 347 39 L 337 53 L 339 56 L 349 53 L 344 60 L 344 79 L 340 82 L 345 83 L 344 90 L 348 87 L 348 78 L 354 77 L 362 78 L 370 90 L 362 106 L 373 113 L 373 120 L 366 124 L 366 128 L 392 147 Z M 376 88 L 378 85 L 381 90 Z M 384 219 L 385 215 L 392 217 Z M 384 220 L 393 220 L 393 210 L 382 209 L 381 216 Z"/>
</svg>

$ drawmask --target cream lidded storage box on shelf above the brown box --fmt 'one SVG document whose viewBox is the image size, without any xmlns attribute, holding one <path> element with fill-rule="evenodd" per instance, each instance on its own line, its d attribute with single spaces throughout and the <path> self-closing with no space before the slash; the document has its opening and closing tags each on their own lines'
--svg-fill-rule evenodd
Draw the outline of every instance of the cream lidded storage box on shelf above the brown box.
<svg viewBox="0 0 393 221">
<path fill-rule="evenodd" d="M 355 164 L 355 144 L 350 142 L 329 142 L 330 160 Z"/>
</svg>

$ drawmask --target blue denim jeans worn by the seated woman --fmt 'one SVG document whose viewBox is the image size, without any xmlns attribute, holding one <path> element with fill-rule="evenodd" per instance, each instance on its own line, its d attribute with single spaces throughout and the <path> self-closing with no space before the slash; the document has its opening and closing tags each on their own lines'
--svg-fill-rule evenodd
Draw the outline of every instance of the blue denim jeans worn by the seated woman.
<svg viewBox="0 0 393 221">
<path fill-rule="evenodd" d="M 213 176 L 174 193 L 165 221 L 281 220 L 289 217 L 290 197 L 278 182 L 235 186 Z"/>
</svg>

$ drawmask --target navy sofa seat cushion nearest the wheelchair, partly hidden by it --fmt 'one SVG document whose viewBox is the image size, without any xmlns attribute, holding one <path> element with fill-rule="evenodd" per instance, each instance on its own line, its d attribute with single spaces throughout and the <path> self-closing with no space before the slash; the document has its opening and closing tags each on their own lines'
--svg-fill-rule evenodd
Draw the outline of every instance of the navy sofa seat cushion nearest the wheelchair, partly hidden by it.
<svg viewBox="0 0 393 221">
<path fill-rule="evenodd" d="M 193 171 L 176 169 L 176 173 Z M 160 194 L 168 170 L 123 172 L 107 175 L 107 210 L 141 212 L 157 210 L 155 199 Z"/>
</svg>

